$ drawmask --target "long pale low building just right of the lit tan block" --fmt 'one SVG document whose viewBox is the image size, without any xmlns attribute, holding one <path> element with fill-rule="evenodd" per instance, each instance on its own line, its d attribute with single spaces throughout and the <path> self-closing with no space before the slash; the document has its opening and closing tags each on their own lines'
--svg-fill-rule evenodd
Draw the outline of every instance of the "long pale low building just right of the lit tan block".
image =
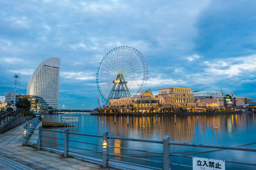
<svg viewBox="0 0 256 170">
<path fill-rule="evenodd" d="M 226 96 L 223 92 L 203 91 L 193 92 L 193 94 L 195 96 L 195 101 L 198 101 L 198 99 L 218 99 L 220 107 L 227 106 Z"/>
</svg>

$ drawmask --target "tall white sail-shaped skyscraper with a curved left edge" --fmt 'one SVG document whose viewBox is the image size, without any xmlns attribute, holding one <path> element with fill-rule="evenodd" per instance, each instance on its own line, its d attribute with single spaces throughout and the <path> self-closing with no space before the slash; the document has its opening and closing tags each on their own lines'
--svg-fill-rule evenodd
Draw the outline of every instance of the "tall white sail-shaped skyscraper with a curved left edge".
<svg viewBox="0 0 256 170">
<path fill-rule="evenodd" d="M 32 74 L 27 94 L 43 97 L 49 107 L 58 108 L 60 82 L 60 58 L 42 62 Z"/>
</svg>

